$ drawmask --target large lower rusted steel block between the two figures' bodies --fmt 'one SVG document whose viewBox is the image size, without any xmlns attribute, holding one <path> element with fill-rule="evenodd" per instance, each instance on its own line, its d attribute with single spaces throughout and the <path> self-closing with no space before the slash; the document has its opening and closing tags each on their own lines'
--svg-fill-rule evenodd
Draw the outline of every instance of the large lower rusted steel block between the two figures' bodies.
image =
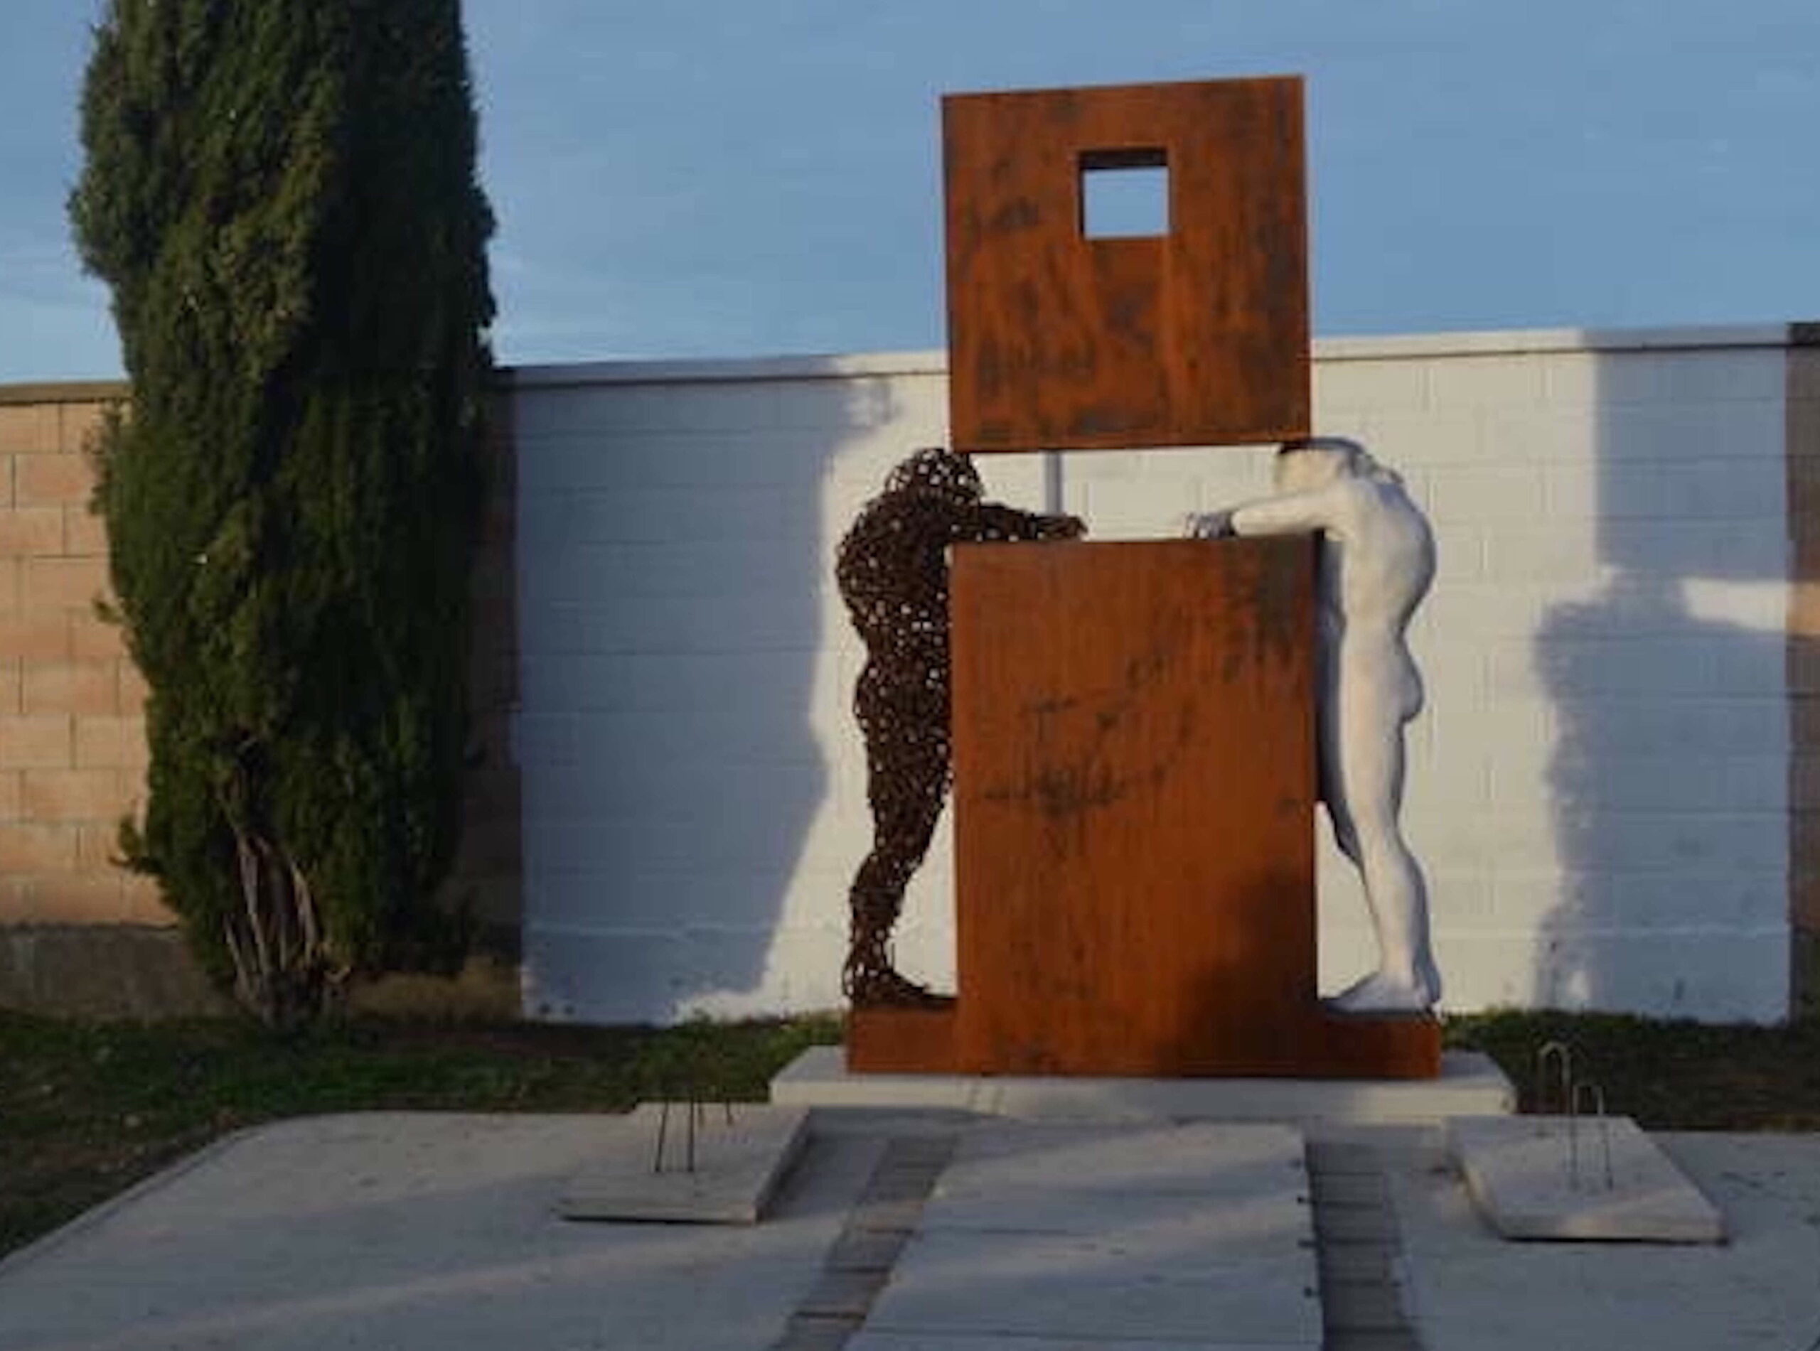
<svg viewBox="0 0 1820 1351">
<path fill-rule="evenodd" d="M 1432 1020 L 1316 1000 L 1312 564 L 956 549 L 957 1069 L 1436 1073 Z"/>
</svg>

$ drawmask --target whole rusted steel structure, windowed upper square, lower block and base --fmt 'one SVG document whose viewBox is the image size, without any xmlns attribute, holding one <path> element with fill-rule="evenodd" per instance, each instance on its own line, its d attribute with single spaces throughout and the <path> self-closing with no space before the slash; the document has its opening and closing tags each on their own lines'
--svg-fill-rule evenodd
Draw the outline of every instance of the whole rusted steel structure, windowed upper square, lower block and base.
<svg viewBox="0 0 1820 1351">
<path fill-rule="evenodd" d="M 1299 80 L 957 95 L 943 160 L 956 451 L 1309 435 Z M 1136 171 L 1167 180 L 1161 218 L 1103 229 L 1090 189 Z M 895 896 L 855 884 L 850 1069 L 1438 1073 L 1432 1018 L 1316 996 L 1314 556 L 954 549 L 954 673 L 943 631 L 923 707 L 952 689 L 959 991 L 895 976 Z M 905 807 L 914 866 L 950 736 L 897 755 L 935 786 Z"/>
</svg>

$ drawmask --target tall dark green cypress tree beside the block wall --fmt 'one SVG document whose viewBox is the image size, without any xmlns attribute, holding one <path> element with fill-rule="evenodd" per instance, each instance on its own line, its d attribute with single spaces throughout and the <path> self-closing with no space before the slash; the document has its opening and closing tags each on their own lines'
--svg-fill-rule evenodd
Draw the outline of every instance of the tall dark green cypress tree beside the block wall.
<svg viewBox="0 0 1820 1351">
<path fill-rule="evenodd" d="M 98 444 L 144 820 L 275 1026 L 448 949 L 493 315 L 459 0 L 111 0 L 69 213 L 131 402 Z"/>
</svg>

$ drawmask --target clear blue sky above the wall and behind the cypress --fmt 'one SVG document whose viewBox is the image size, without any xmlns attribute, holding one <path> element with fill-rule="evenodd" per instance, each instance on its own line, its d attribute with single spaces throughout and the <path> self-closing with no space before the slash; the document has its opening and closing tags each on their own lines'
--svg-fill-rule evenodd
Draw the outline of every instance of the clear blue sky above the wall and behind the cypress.
<svg viewBox="0 0 1820 1351">
<path fill-rule="evenodd" d="M 0 382 L 120 371 L 7 0 Z M 468 0 L 510 364 L 937 347 L 945 91 L 1299 73 L 1318 333 L 1820 318 L 1815 0 Z"/>
</svg>

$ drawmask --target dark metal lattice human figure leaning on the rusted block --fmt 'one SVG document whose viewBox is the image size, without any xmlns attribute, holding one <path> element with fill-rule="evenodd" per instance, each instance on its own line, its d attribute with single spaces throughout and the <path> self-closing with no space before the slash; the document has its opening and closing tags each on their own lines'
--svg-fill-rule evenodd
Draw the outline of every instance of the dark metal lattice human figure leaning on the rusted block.
<svg viewBox="0 0 1820 1351">
<path fill-rule="evenodd" d="M 977 540 L 1072 540 L 1077 516 L 985 502 L 965 455 L 917 451 L 841 540 L 835 580 L 866 665 L 854 713 L 866 740 L 872 853 L 848 895 L 852 927 L 841 987 L 855 1006 L 930 1004 L 892 966 L 890 936 L 905 887 L 928 853 L 952 778 L 948 711 L 948 545 Z"/>
</svg>

